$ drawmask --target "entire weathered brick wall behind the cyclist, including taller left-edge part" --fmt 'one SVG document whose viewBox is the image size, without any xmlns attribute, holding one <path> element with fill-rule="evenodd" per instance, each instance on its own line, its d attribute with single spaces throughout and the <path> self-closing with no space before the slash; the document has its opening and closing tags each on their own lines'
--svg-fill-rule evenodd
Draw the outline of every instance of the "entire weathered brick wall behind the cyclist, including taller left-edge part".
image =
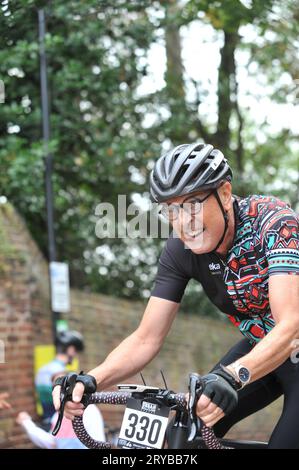
<svg viewBox="0 0 299 470">
<path fill-rule="evenodd" d="M 35 417 L 33 348 L 51 343 L 47 265 L 23 221 L 9 204 L 0 205 L 0 339 L 6 360 L 0 364 L 0 391 L 10 393 L 11 410 L 0 411 L 0 448 L 31 444 L 15 424 L 26 410 Z M 71 292 L 70 328 L 84 334 L 87 347 L 80 363 L 84 370 L 99 364 L 134 328 L 144 305 L 78 290 Z M 188 371 L 206 372 L 239 339 L 230 325 L 193 315 L 178 314 L 158 357 L 145 369 L 152 385 L 162 384 L 160 369 L 175 390 L 184 390 Z M 132 377 L 140 382 L 140 377 Z M 281 404 L 247 418 L 230 435 L 267 439 Z M 119 424 L 119 407 L 102 408 L 108 425 Z"/>
</svg>

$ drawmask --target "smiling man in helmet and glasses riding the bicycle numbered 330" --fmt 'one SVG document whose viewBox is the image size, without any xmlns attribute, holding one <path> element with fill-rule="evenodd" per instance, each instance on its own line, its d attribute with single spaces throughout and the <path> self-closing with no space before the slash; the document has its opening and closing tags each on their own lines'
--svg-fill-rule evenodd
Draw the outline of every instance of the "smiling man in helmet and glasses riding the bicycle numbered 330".
<svg viewBox="0 0 299 470">
<path fill-rule="evenodd" d="M 212 145 L 180 145 L 151 174 L 152 199 L 173 226 L 142 321 L 89 374 L 100 389 L 137 373 L 161 349 L 190 279 L 244 338 L 204 376 L 197 414 L 216 435 L 284 395 L 269 448 L 299 448 L 299 217 L 272 196 L 232 194 L 232 172 Z M 92 380 L 92 379 L 90 379 Z M 84 381 L 82 381 L 84 382 Z M 59 408 L 59 386 L 53 398 Z M 78 383 L 69 418 L 82 414 Z"/>
</svg>

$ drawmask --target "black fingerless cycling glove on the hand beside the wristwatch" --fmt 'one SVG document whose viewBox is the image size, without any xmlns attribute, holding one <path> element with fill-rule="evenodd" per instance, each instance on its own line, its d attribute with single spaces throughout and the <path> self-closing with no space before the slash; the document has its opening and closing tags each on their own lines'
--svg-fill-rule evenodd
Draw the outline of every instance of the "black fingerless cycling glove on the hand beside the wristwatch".
<svg viewBox="0 0 299 470">
<path fill-rule="evenodd" d="M 240 384 L 224 369 L 215 369 L 202 377 L 203 395 L 228 415 L 238 404 L 237 390 Z"/>
</svg>

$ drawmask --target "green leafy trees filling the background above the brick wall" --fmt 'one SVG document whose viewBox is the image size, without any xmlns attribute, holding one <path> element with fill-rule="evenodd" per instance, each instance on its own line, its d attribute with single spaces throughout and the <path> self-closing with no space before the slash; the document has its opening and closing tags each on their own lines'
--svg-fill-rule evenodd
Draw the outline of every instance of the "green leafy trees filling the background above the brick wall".
<svg viewBox="0 0 299 470">
<path fill-rule="evenodd" d="M 148 295 L 161 242 L 99 240 L 95 208 L 104 201 L 115 205 L 119 194 L 127 195 L 128 204 L 136 194 L 147 197 L 149 170 L 169 142 L 203 139 L 223 149 L 234 168 L 236 193 L 271 192 L 298 202 L 297 136 L 285 128 L 273 133 L 267 119 L 254 122 L 252 109 L 240 102 L 238 62 L 238 54 L 247 54 L 248 77 L 264 81 L 273 103 L 298 103 L 295 1 L 2 0 L 0 194 L 24 216 L 45 255 L 37 15 L 42 7 L 56 242 L 58 259 L 70 263 L 74 286 L 132 298 Z M 181 29 L 192 24 L 210 25 L 222 42 L 214 126 L 200 111 L 206 100 L 201 83 L 184 67 Z M 247 38 L 248 28 L 256 40 Z M 148 54 L 155 43 L 165 45 L 165 85 L 140 91 L 153 76 Z M 250 94 L 258 99 L 254 89 Z M 193 303 L 192 289 L 186 305 L 203 308 Z"/>
</svg>

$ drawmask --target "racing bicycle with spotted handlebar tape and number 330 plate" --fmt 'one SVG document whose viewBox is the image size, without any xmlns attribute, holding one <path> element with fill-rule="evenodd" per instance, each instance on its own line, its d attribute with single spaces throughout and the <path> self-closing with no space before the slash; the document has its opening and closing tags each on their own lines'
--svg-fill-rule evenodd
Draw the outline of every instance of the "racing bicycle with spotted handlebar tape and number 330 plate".
<svg viewBox="0 0 299 470">
<path fill-rule="evenodd" d="M 63 417 L 64 405 L 71 400 L 74 383 L 61 392 L 61 409 L 53 434 Z M 126 405 L 118 447 L 126 449 L 265 449 L 266 442 L 218 439 L 196 415 L 196 404 L 203 391 L 199 374 L 189 376 L 189 400 L 185 393 L 147 385 L 121 384 L 118 391 L 84 394 L 82 403 Z M 170 412 L 175 416 L 169 423 Z M 82 416 L 73 420 L 74 432 L 89 449 L 111 449 L 110 442 L 94 440 L 86 431 Z M 201 437 L 199 437 L 199 433 Z"/>
</svg>

